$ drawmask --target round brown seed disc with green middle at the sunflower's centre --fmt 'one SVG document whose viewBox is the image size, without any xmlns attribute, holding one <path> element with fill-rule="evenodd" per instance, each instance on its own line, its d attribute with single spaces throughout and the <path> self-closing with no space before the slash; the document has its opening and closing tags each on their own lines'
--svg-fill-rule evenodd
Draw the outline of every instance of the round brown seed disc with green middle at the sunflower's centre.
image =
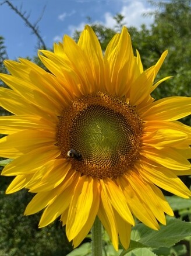
<svg viewBox="0 0 191 256">
<path fill-rule="evenodd" d="M 63 157 L 82 175 L 116 178 L 139 157 L 142 120 L 132 106 L 102 92 L 72 101 L 57 129 Z"/>
</svg>

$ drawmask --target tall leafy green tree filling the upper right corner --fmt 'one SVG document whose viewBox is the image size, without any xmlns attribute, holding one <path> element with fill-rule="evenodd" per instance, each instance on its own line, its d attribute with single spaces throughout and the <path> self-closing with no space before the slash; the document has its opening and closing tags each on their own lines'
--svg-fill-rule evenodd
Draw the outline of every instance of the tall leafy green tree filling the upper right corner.
<svg viewBox="0 0 191 256">
<path fill-rule="evenodd" d="M 169 50 L 161 73 L 174 78 L 158 90 L 158 96 L 191 96 L 191 1 L 161 2 L 160 8 L 151 27 L 152 41 L 159 53 Z"/>
</svg>

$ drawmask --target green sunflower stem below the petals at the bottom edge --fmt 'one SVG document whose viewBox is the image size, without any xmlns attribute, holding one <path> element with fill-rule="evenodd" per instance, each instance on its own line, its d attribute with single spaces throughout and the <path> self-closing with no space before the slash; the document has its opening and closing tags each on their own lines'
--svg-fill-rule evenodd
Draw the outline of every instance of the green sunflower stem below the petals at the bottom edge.
<svg viewBox="0 0 191 256">
<path fill-rule="evenodd" d="M 91 229 L 91 248 L 93 256 L 102 256 L 102 230 L 101 222 L 98 217 L 95 218 L 93 227 Z"/>
</svg>

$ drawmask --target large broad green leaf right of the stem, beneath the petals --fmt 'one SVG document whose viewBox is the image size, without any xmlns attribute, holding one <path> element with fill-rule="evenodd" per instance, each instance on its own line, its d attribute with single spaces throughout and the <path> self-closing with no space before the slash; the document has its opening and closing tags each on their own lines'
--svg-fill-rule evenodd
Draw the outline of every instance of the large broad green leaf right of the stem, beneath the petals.
<svg viewBox="0 0 191 256">
<path fill-rule="evenodd" d="M 167 226 L 161 226 L 158 231 L 152 230 L 144 224 L 137 224 L 132 229 L 131 238 L 139 241 L 145 247 L 160 248 L 171 247 L 188 236 L 191 236 L 191 223 L 171 217 L 167 219 Z"/>
</svg>

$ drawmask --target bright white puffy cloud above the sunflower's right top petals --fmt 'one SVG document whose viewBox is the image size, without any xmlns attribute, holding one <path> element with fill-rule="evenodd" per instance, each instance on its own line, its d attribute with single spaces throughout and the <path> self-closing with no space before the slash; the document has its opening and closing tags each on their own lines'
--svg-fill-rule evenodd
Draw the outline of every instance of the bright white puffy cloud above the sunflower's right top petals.
<svg viewBox="0 0 191 256">
<path fill-rule="evenodd" d="M 153 9 L 144 6 L 143 2 L 132 1 L 129 5 L 129 2 L 123 2 L 125 5 L 122 6 L 122 9 L 119 13 L 124 16 L 123 22 L 127 27 L 134 26 L 138 29 L 144 23 L 147 27 L 153 23 L 153 16 L 143 16 L 143 14 L 152 11 Z M 106 12 L 104 15 L 105 22 L 104 25 L 107 27 L 114 28 L 116 21 L 113 19 L 113 14 Z"/>
</svg>

